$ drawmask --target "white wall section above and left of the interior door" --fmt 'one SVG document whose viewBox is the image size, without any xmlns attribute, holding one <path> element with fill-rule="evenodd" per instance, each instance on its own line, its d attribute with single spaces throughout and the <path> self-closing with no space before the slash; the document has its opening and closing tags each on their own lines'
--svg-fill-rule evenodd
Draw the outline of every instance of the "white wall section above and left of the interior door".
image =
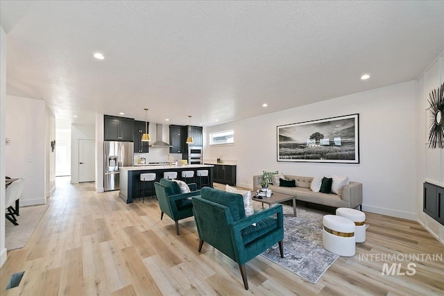
<svg viewBox="0 0 444 296">
<path fill-rule="evenodd" d="M 95 125 L 71 125 L 71 183 L 78 183 L 78 140 L 95 139 Z"/>
</svg>

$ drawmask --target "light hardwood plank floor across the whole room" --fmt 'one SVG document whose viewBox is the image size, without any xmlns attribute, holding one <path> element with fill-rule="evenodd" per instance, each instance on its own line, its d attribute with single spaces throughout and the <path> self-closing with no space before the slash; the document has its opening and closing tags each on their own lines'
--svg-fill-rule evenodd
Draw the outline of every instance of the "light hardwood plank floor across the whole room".
<svg viewBox="0 0 444 296">
<path fill-rule="evenodd" d="M 193 218 L 180 221 L 177 236 L 169 217 L 160 220 L 156 200 L 125 204 L 118 191 L 96 193 L 92 183 L 59 177 L 48 202 L 26 247 L 8 252 L 0 295 L 444 295 L 443 261 L 400 261 L 400 272 L 415 263 L 415 275 L 382 275 L 384 263 L 398 261 L 362 258 L 444 256 L 443 245 L 415 221 L 366 213 L 366 242 L 316 284 L 257 256 L 246 264 L 247 291 L 237 263 L 210 245 L 198 253 Z M 21 284 L 5 290 L 20 271 Z"/>
</svg>

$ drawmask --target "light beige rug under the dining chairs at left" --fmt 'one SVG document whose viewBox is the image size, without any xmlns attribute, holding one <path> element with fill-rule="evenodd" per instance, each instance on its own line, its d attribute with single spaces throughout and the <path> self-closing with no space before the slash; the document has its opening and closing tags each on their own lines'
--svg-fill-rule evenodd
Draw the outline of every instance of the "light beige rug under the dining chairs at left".
<svg viewBox="0 0 444 296">
<path fill-rule="evenodd" d="M 8 251 L 20 249 L 26 245 L 48 207 L 48 204 L 21 207 L 20 216 L 17 216 L 17 223 L 19 223 L 17 226 L 5 219 L 5 245 Z"/>
</svg>

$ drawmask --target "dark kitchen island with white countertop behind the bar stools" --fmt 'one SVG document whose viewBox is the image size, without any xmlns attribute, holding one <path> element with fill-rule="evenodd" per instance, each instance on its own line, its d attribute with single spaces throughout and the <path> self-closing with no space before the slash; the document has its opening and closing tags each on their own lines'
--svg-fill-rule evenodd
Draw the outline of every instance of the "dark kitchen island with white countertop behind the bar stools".
<svg viewBox="0 0 444 296">
<path fill-rule="evenodd" d="M 208 170 L 208 183 L 213 186 L 213 165 L 211 164 L 187 164 L 185 166 L 122 166 L 120 168 L 120 192 L 119 197 L 130 204 L 135 198 L 140 197 L 140 189 L 142 182 L 140 181 L 140 174 L 155 173 L 156 181 L 158 182 L 163 176 L 164 172 L 172 171 L 178 172 L 178 180 L 181 180 L 182 171 L 194 171 L 194 178 L 197 180 L 197 170 Z"/>
</svg>

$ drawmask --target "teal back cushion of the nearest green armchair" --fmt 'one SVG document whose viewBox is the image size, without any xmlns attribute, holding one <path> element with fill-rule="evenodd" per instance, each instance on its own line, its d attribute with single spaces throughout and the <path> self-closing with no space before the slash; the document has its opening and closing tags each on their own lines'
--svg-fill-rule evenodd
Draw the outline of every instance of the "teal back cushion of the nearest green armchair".
<svg viewBox="0 0 444 296">
<path fill-rule="evenodd" d="M 244 198 L 242 198 L 240 194 L 211 187 L 203 187 L 203 189 L 200 190 L 200 197 L 204 200 L 210 200 L 228 207 L 234 221 L 245 218 Z"/>
</svg>

